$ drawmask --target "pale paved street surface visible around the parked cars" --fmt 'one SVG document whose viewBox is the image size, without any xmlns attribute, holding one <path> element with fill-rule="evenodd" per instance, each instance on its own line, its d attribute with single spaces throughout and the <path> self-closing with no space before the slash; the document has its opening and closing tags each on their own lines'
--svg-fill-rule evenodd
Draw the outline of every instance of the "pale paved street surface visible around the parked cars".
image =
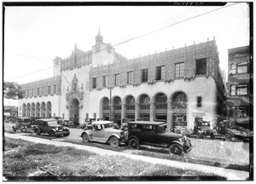
<svg viewBox="0 0 256 184">
<path fill-rule="evenodd" d="M 12 132 L 13 124 L 4 124 L 5 132 Z M 70 135 L 67 137 L 55 138 L 55 141 L 79 141 L 82 142 L 82 138 L 79 137 L 83 129 L 70 129 Z M 16 134 L 21 134 L 18 130 Z M 23 133 L 22 133 L 23 134 Z M 34 133 L 26 133 L 33 134 Z M 49 135 L 42 135 L 47 136 Z M 199 158 L 208 161 L 214 161 L 224 164 L 249 164 L 249 143 L 242 141 L 221 141 L 210 139 L 194 139 L 191 138 L 193 145 L 192 150 L 185 154 L 185 158 Z M 95 143 L 97 144 L 97 143 Z M 108 146 L 110 147 L 110 146 Z M 128 147 L 129 148 L 129 147 Z M 140 150 L 125 150 L 125 152 L 140 152 Z"/>
</svg>

